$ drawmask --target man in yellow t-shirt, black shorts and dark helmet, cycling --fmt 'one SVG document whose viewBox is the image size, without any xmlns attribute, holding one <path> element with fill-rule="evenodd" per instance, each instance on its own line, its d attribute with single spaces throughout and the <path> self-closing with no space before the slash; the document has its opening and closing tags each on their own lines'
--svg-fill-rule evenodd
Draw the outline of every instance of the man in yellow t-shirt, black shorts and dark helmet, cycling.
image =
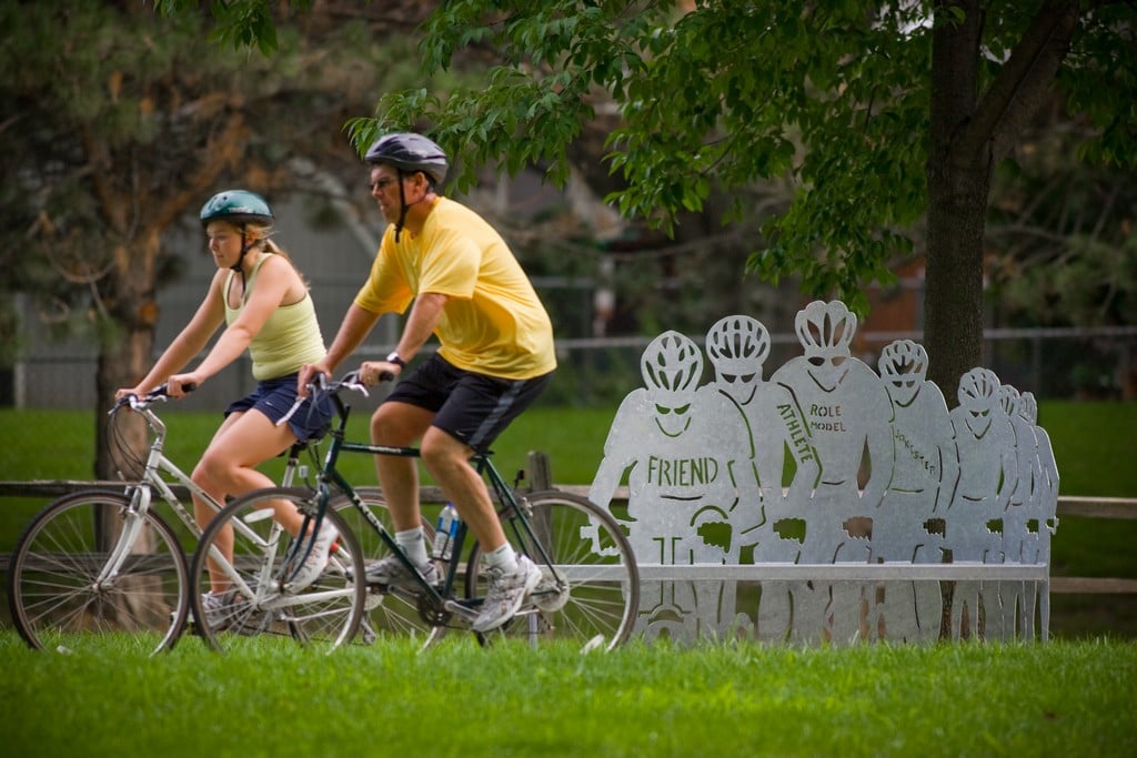
<svg viewBox="0 0 1137 758">
<path fill-rule="evenodd" d="M 509 620 L 541 577 L 506 541 L 489 490 L 471 466 L 548 384 L 556 368 L 553 325 L 501 236 L 470 208 L 438 193 L 446 153 L 413 133 L 388 134 L 367 150 L 371 194 L 389 222 L 371 275 L 348 308 L 327 355 L 300 372 L 331 374 L 384 313 L 410 307 L 402 335 L 383 360 L 363 361 L 368 385 L 399 376 L 371 419 L 371 439 L 405 447 L 421 440 L 422 460 L 485 552 L 490 585 L 476 632 Z M 431 334 L 438 352 L 405 376 Z M 438 582 L 426 552 L 413 458 L 376 456 L 396 542 L 423 575 Z M 393 556 L 372 564 L 367 581 L 410 585 Z"/>
</svg>

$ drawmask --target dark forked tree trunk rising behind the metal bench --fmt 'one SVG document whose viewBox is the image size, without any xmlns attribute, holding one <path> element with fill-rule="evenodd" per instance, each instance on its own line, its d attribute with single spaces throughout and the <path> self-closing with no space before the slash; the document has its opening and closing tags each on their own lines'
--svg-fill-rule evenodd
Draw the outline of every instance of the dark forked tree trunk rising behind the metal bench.
<svg viewBox="0 0 1137 758">
<path fill-rule="evenodd" d="M 938 11 L 932 33 L 924 340 L 928 378 L 956 405 L 960 377 L 984 363 L 984 232 L 991 174 L 1046 101 L 1080 7 L 1044 3 L 998 75 L 979 92 L 979 0 Z M 946 9 L 958 9 L 956 22 Z"/>
</svg>

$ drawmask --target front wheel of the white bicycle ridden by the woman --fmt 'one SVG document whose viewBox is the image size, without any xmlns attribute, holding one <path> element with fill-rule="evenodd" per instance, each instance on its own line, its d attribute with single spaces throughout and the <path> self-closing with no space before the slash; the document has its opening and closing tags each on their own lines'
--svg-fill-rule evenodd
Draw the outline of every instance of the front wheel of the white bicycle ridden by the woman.
<svg viewBox="0 0 1137 758">
<path fill-rule="evenodd" d="M 130 544 L 119 548 L 123 540 Z M 8 567 L 11 618 L 42 650 L 106 650 L 114 639 L 157 652 L 185 622 L 185 565 L 157 514 L 139 516 L 123 493 L 76 492 L 47 506 L 20 535 Z"/>
</svg>

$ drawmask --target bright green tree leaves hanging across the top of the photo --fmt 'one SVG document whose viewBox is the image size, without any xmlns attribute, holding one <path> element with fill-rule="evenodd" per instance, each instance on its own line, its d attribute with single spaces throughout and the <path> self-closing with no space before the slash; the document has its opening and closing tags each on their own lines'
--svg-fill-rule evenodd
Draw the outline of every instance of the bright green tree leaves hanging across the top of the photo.
<svg viewBox="0 0 1137 758">
<path fill-rule="evenodd" d="M 985 9 L 978 89 L 999 74 L 1038 6 Z M 217 34 L 272 48 L 267 7 L 216 0 Z M 772 281 L 800 274 L 811 293 L 855 303 L 862 283 L 887 278 L 888 264 L 913 248 L 928 202 L 932 25 L 964 14 L 855 0 L 725 0 L 689 13 L 667 1 L 451 0 L 422 27 L 423 69 L 433 76 L 492 50 L 499 64 L 484 85 L 390 93 L 349 131 L 358 145 L 381 130 L 429 125 L 462 158 L 459 188 L 487 165 L 540 165 L 559 183 L 581 125 L 614 111 L 604 159 L 622 182 L 608 197 L 622 214 L 671 232 L 679 215 L 725 195 L 737 219 L 747 214 L 740 197 L 785 182 L 792 197 L 782 213 L 749 209 L 772 240 L 752 270 Z M 1095 7 L 1060 73 L 1071 109 L 1098 128 L 1078 148 L 1086 159 L 1137 165 L 1135 22 L 1130 3 Z"/>
</svg>

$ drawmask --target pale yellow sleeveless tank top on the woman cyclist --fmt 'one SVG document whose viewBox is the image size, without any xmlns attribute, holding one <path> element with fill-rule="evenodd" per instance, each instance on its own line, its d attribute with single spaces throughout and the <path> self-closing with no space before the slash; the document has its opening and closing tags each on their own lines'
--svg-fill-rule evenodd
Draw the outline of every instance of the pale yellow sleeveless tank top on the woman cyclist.
<svg viewBox="0 0 1137 758">
<path fill-rule="evenodd" d="M 241 315 L 244 308 L 244 300 L 248 300 L 252 292 L 252 285 L 257 281 L 257 272 L 262 264 L 272 253 L 266 253 L 257 261 L 252 269 L 252 275 L 244 288 L 244 298 L 240 308 L 230 308 L 229 299 L 225 298 L 225 324 L 232 324 Z M 233 281 L 236 272 L 230 272 L 225 280 L 225 292 Z M 312 295 L 305 294 L 302 300 L 298 300 L 289 306 L 279 306 L 273 311 L 265 325 L 260 327 L 252 341 L 249 342 L 249 355 L 252 357 L 252 377 L 258 382 L 271 378 L 288 376 L 300 370 L 305 364 L 314 364 L 323 359 L 324 338 L 319 333 L 319 322 L 316 320 L 316 308 L 312 302 Z"/>
</svg>

